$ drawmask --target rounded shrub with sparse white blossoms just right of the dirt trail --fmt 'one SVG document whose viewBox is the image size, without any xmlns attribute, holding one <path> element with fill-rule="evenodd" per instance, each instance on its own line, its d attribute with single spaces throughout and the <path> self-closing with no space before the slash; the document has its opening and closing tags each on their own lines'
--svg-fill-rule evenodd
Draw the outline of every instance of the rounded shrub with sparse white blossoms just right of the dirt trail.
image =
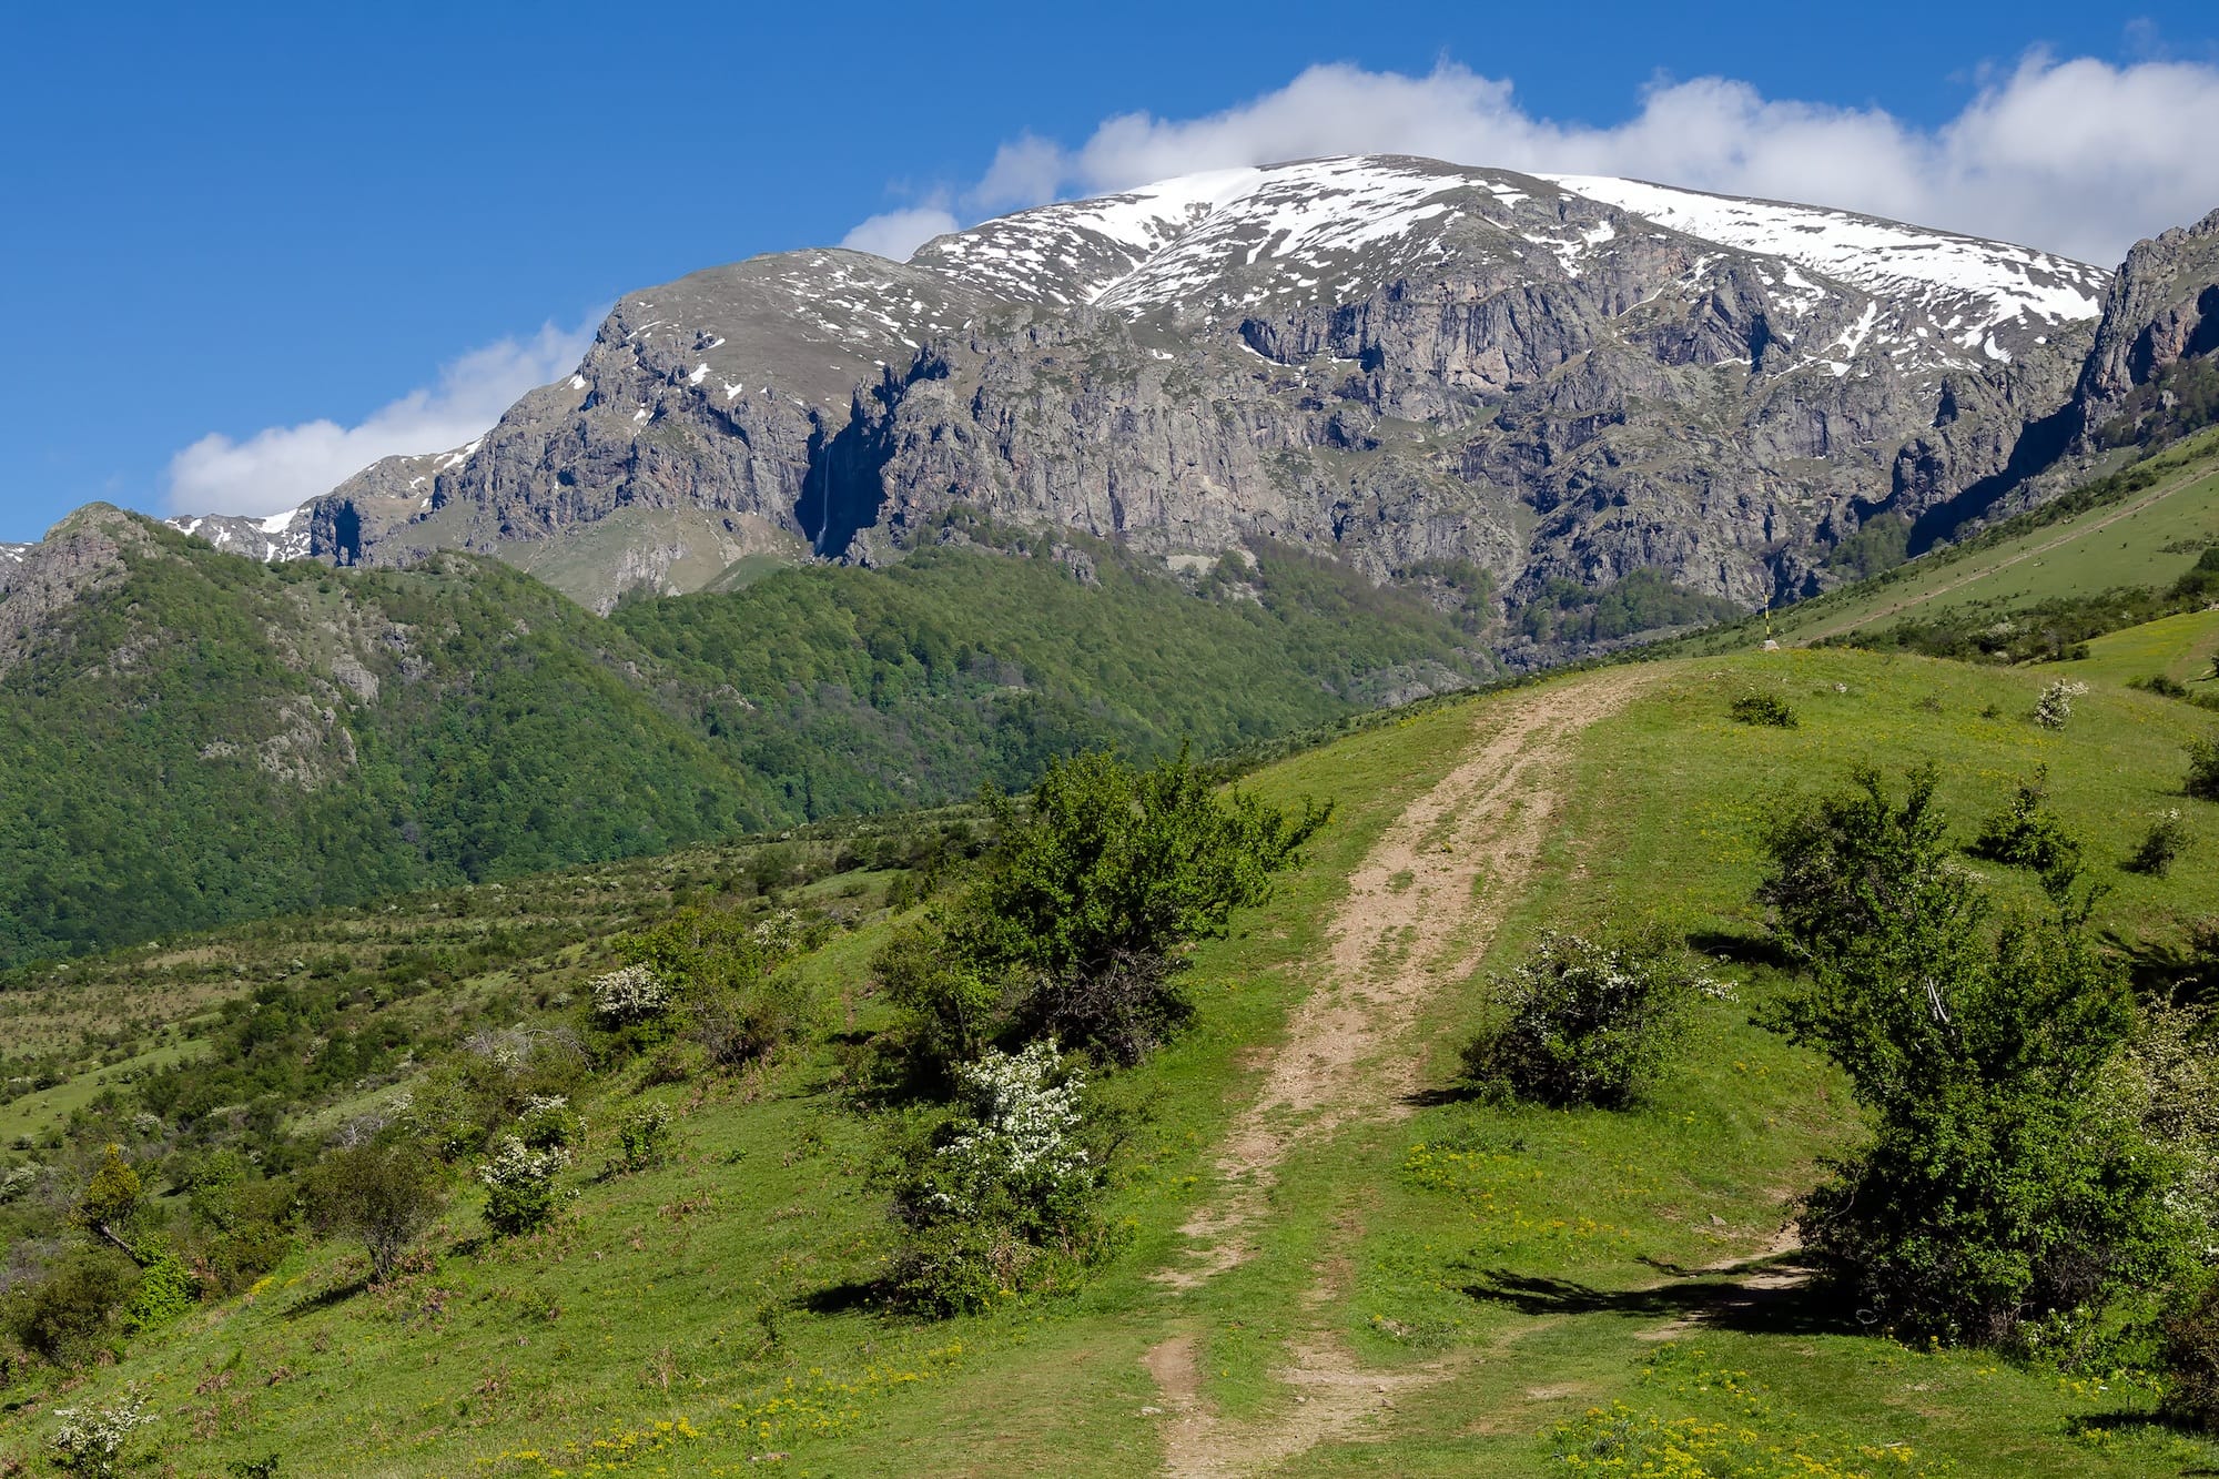
<svg viewBox="0 0 2219 1479">
<path fill-rule="evenodd" d="M 1720 988 L 1660 937 L 1547 933 L 1496 979 L 1504 1019 L 1465 1044 L 1465 1077 L 1536 1104 L 1624 1108 L 1680 1039 L 1698 990 Z"/>
</svg>

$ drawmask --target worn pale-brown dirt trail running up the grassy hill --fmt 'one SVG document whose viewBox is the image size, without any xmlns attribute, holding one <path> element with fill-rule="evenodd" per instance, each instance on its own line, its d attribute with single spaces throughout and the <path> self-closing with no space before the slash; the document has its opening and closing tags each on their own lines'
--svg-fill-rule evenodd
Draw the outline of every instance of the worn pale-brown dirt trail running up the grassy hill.
<svg viewBox="0 0 2219 1479">
<path fill-rule="evenodd" d="M 1473 748 L 1411 802 L 1349 877 L 1329 930 L 1325 979 L 1294 1013 L 1256 1101 L 1218 1155 L 1225 1193 L 1183 1228 L 1187 1266 L 1158 1275 L 1192 1290 L 1254 1252 L 1278 1166 L 1303 1139 L 1354 1119 L 1407 1115 L 1418 1086 L 1416 1053 L 1400 1042 L 1436 988 L 1471 973 L 1524 888 L 1562 799 L 1562 768 L 1589 724 L 1651 682 L 1620 668 L 1556 682 L 1478 708 Z M 1340 1259 L 1334 1259 L 1338 1266 Z M 1338 1297 L 1338 1268 L 1320 1270 L 1305 1304 Z M 1147 1352 L 1169 1408 L 1165 1472 L 1220 1477 L 1265 1472 L 1323 1441 L 1356 1437 L 1400 1390 L 1431 1386 L 1471 1361 L 1365 1372 L 1327 1328 L 1289 1346 L 1278 1377 L 1296 1406 L 1265 1423 L 1223 1419 L 1203 1397 L 1196 1339 L 1178 1335 Z"/>
</svg>

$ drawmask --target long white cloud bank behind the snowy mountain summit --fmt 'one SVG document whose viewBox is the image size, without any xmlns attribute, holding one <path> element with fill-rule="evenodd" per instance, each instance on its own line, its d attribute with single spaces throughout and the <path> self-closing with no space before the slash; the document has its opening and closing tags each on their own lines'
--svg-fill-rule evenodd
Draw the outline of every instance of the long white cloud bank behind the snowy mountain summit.
<svg viewBox="0 0 2219 1479">
<path fill-rule="evenodd" d="M 2115 67 L 2037 51 L 1988 73 L 1935 129 L 1882 109 L 1773 100 L 1731 78 L 1658 82 L 1620 124 L 1564 124 L 1524 111 L 1509 80 L 1453 62 L 1422 78 L 1329 64 L 1207 118 L 1123 113 L 1078 147 L 1016 138 L 959 200 L 976 220 L 1200 169 L 1422 153 L 1846 207 L 2112 266 L 2137 238 L 2219 207 L 2212 138 L 2219 67 L 2170 60 Z M 848 240 L 899 258 L 952 220 L 890 211 Z"/>
</svg>

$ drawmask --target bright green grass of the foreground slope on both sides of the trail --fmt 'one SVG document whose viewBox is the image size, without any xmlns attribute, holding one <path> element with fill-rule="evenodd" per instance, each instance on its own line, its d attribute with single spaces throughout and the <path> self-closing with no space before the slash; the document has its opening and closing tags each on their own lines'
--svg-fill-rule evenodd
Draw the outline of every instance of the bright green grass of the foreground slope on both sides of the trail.
<svg viewBox="0 0 2219 1479">
<path fill-rule="evenodd" d="M 1129 1475 L 1161 1452 L 1165 1419 L 1143 1412 L 1158 1403 L 1141 1366 L 1149 1346 L 1196 1332 L 1218 1410 L 1276 1421 L 1296 1408 L 1274 1375 L 1287 1339 L 1325 1328 L 1371 1368 L 1447 1359 L 1456 1377 L 1400 1395 L 1365 1432 L 1371 1441 L 1320 1446 L 1289 1472 L 1549 1472 L 1547 1435 L 1611 1403 L 1800 1443 L 1817 1468 L 1793 1472 L 1855 1472 L 1882 1463 L 1860 1459 L 1860 1446 L 1888 1443 L 1904 1448 L 1884 1450 L 1897 1457 L 1873 1472 L 2210 1466 L 2219 1452 L 2206 1443 L 2141 1421 L 2146 1392 L 1904 1350 L 1802 1295 L 1655 1339 L 1718 1295 L 1715 1277 L 1686 1270 L 1762 1252 L 1817 1159 L 1855 1135 L 1833 1073 L 1749 1026 L 1749 1006 L 1782 986 L 1749 948 L 1766 817 L 1840 786 L 1853 764 L 1933 759 L 1968 837 L 2046 764 L 2053 806 L 2112 884 L 2099 924 L 2164 935 L 2219 908 L 2219 808 L 2177 795 L 2183 744 L 2215 722 L 2124 680 L 2190 662 L 2215 635 L 2210 622 L 2181 622 L 2037 671 L 1837 648 L 1653 666 L 1649 695 L 1587 733 L 1531 888 L 1482 970 L 1427 1004 L 1409 1048 L 1445 1084 L 1482 1010 L 1485 973 L 1540 928 L 1604 915 L 1655 915 L 1731 957 L 1718 970 L 1742 1002 L 1702 1010 L 1678 1068 L 1635 1113 L 1445 1101 L 1305 1141 L 1256 1257 L 1200 1290 L 1174 1295 L 1149 1275 L 1176 1259 L 1178 1224 L 1212 1195 L 1216 1141 L 1316 982 L 1309 962 L 1342 879 L 1460 755 L 1476 704 L 1502 700 L 1378 724 L 1245 782 L 1340 811 L 1271 904 L 1196 953 L 1198 1026 L 1110 1084 L 1149 1104 L 1152 1119 L 1112 1206 L 1129 1246 L 1076 1295 L 945 1326 L 854 1304 L 883 1226 L 863 1181 L 868 1126 L 843 1108 L 837 1046 L 821 1042 L 768 1075 L 639 1090 L 679 1110 L 683 1155 L 581 1181 L 544 1237 L 482 1246 L 462 1197 L 430 1239 L 435 1264 L 395 1290 L 351 1292 L 359 1257 L 344 1250 L 295 1255 L 251 1299 L 144 1337 L 71 1399 L 140 1384 L 164 1410 L 153 1439 L 178 1472 L 280 1450 L 286 1475 L 546 1475 L 590 1472 L 590 1461 L 737 1475 L 761 1472 L 750 1459 L 768 1452 L 810 1475 Z M 2033 726 L 2041 684 L 2075 673 L 2090 693 L 2066 731 Z M 1786 697 L 1800 728 L 1735 724 L 1729 702 L 1751 688 Z M 2188 806 L 2190 855 L 2168 879 L 2117 873 L 2126 822 L 2161 806 Z M 2037 897 L 2008 871 L 1982 873 L 2010 899 Z M 819 888 L 837 899 L 843 886 Z M 553 882 L 546 897 L 553 908 Z M 879 1019 L 865 962 L 885 926 L 859 919 L 810 962 L 828 1033 Z M 581 930 L 566 948 L 590 950 L 592 937 Z M 610 1086 L 588 1117 L 612 1121 L 632 1093 L 632 1079 Z M 604 1137 L 597 1128 L 586 1170 Z M 1320 1270 L 1340 1272 L 1309 1306 Z M 36 1448 L 44 1406 L 36 1384 L 0 1397 L 0 1452 Z"/>
</svg>

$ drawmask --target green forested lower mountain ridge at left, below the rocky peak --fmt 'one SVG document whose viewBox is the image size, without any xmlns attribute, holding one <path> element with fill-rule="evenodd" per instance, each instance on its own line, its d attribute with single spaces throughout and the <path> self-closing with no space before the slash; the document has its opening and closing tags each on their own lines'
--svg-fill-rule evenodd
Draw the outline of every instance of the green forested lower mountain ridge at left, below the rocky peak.
<svg viewBox="0 0 2219 1479">
<path fill-rule="evenodd" d="M 950 533 L 599 620 L 459 551 L 264 564 L 80 509 L 4 566 L 0 966 L 963 799 L 1087 746 L 1223 751 L 1493 673 L 1469 615 L 1300 551 L 1174 575 Z"/>
</svg>

